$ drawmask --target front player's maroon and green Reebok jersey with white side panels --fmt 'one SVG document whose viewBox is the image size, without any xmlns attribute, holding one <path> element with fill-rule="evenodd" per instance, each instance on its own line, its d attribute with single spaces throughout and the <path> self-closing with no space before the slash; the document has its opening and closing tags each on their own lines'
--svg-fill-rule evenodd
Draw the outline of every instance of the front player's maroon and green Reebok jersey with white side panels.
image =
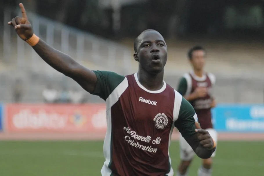
<svg viewBox="0 0 264 176">
<path fill-rule="evenodd" d="M 183 137 L 194 135 L 197 116 L 191 104 L 165 82 L 160 90 L 147 90 L 137 73 L 94 73 L 93 94 L 106 101 L 102 176 L 172 176 L 171 133 L 177 127 Z"/>
</svg>

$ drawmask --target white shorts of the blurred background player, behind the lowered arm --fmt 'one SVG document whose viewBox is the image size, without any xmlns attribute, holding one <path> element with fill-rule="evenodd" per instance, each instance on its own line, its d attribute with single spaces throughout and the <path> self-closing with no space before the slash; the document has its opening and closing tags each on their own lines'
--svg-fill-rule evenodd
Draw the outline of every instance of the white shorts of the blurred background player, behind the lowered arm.
<svg viewBox="0 0 264 176">
<path fill-rule="evenodd" d="M 211 137 L 216 141 L 217 143 L 217 132 L 213 128 L 205 129 L 209 132 Z M 190 161 L 193 159 L 195 153 L 194 150 L 191 148 L 191 146 L 185 141 L 185 139 L 180 135 L 180 158 L 183 161 Z M 211 157 L 215 157 L 216 151 L 212 154 Z"/>
</svg>

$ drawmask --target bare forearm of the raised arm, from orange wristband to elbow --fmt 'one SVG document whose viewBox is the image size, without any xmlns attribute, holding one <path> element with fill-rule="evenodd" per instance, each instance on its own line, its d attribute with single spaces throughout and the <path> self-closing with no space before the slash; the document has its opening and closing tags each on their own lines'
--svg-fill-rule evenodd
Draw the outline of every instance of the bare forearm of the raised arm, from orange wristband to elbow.
<svg viewBox="0 0 264 176">
<path fill-rule="evenodd" d="M 32 48 L 46 63 L 64 75 L 69 76 L 72 68 L 77 64 L 72 57 L 52 48 L 41 39 Z"/>
</svg>

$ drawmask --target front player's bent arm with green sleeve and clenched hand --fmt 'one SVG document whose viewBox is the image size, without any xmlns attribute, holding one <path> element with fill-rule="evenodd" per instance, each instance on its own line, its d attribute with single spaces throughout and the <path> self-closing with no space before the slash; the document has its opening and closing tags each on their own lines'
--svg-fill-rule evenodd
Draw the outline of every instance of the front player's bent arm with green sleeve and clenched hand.
<svg viewBox="0 0 264 176">
<path fill-rule="evenodd" d="M 180 107 L 175 127 L 188 142 L 196 155 L 202 159 L 210 158 L 215 151 L 214 141 L 206 130 L 198 129 L 196 132 L 197 115 L 191 104 L 184 98 Z"/>
</svg>

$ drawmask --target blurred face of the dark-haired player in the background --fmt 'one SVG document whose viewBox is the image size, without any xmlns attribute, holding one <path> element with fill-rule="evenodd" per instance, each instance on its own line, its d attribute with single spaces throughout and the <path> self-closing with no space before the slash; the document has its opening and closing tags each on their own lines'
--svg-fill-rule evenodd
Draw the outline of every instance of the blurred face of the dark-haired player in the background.
<svg viewBox="0 0 264 176">
<path fill-rule="evenodd" d="M 195 70 L 202 70 L 205 65 L 205 52 L 196 50 L 192 53 L 191 64 Z"/>
</svg>

